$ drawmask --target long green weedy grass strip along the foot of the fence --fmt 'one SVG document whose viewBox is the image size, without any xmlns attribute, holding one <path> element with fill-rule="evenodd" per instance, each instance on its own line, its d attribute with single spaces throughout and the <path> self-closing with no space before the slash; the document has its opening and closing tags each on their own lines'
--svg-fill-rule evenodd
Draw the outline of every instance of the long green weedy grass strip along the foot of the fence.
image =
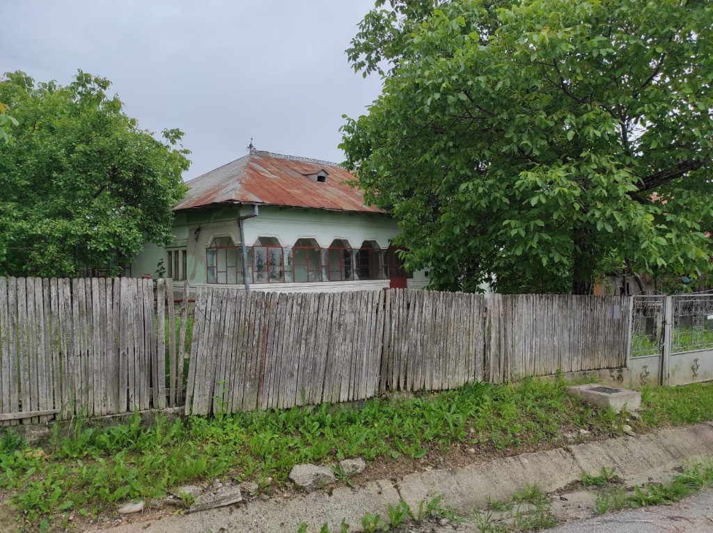
<svg viewBox="0 0 713 533">
<path fill-rule="evenodd" d="M 585 428 L 622 435 L 626 414 L 599 410 L 566 394 L 564 381 L 472 383 L 401 400 L 367 400 L 360 408 L 253 411 L 191 417 L 143 428 L 138 415 L 106 430 L 77 423 L 71 436 L 39 452 L 9 433 L 0 440 L 0 487 L 29 527 L 59 526 L 68 514 L 96 519 L 128 500 L 161 498 L 188 483 L 252 480 L 261 490 L 284 484 L 293 465 L 352 457 L 422 459 L 437 464 L 462 447 L 508 455 L 563 442 Z M 637 432 L 696 423 L 713 413 L 713 384 L 644 390 Z M 588 438 L 590 438 L 588 437 Z M 579 438 L 579 437 L 578 437 Z M 460 445 L 461 448 L 457 448 Z"/>
</svg>

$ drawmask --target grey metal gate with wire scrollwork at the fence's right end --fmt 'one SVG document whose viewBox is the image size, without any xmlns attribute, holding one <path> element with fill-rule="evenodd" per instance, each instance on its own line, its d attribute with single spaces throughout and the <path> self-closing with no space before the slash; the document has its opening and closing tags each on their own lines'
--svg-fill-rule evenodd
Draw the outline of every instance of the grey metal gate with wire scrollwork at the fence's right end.
<svg viewBox="0 0 713 533">
<path fill-rule="evenodd" d="M 632 296 L 627 367 L 640 385 L 713 380 L 713 294 Z"/>
</svg>

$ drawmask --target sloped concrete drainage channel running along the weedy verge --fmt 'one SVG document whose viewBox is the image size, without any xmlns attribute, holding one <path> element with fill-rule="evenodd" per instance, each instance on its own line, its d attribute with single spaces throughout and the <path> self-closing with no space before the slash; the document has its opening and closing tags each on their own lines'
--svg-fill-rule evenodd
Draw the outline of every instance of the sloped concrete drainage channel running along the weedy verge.
<svg viewBox="0 0 713 533">
<path fill-rule="evenodd" d="M 675 467 L 686 462 L 707 460 L 712 455 L 713 423 L 699 424 L 637 437 L 525 453 L 466 467 L 416 472 L 396 481 L 379 480 L 356 488 L 335 488 L 331 495 L 317 491 L 290 499 L 255 500 L 239 507 L 161 519 L 136 516 L 131 523 L 111 531 L 289 533 L 297 532 L 302 522 L 306 522 L 307 530 L 312 532 L 318 532 L 325 522 L 330 530 L 339 531 L 342 519 L 349 524 L 349 531 L 360 531 L 364 514 L 378 513 L 386 517 L 387 505 L 396 505 L 401 499 L 412 509 L 417 509 L 421 501 L 442 495 L 444 504 L 467 516 L 472 514 L 473 509 L 486 509 L 491 501 L 511 500 L 515 492 L 527 485 L 537 484 L 547 493 L 558 492 L 579 482 L 583 473 L 599 475 L 602 467 L 615 467 L 617 475 L 623 480 L 636 484 L 647 481 L 648 477 L 665 477 L 665 472 Z M 587 497 L 578 492 L 571 496 L 566 500 L 555 497 L 552 511 L 566 514 L 588 505 Z M 463 530 L 468 528 L 463 527 Z"/>
</svg>

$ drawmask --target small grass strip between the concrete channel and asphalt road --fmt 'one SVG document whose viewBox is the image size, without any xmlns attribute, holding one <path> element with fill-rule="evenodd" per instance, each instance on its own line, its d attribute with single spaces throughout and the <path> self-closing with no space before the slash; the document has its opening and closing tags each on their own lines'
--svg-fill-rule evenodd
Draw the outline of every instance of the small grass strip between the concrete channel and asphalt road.
<svg viewBox="0 0 713 533">
<path fill-rule="evenodd" d="M 597 495 L 594 510 L 596 514 L 604 514 L 620 509 L 672 504 L 707 487 L 713 487 L 713 461 L 684 469 L 668 483 L 638 485 L 629 495 L 623 489 L 602 492 Z"/>
</svg>

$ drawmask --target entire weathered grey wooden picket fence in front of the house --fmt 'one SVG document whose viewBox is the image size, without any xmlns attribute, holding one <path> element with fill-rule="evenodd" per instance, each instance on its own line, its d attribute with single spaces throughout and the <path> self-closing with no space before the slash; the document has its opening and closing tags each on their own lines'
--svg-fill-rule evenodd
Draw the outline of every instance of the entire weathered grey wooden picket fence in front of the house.
<svg viewBox="0 0 713 533">
<path fill-rule="evenodd" d="M 0 278 L 0 425 L 183 405 L 188 283 Z M 187 413 L 625 365 L 630 299 L 200 287 Z"/>
</svg>

